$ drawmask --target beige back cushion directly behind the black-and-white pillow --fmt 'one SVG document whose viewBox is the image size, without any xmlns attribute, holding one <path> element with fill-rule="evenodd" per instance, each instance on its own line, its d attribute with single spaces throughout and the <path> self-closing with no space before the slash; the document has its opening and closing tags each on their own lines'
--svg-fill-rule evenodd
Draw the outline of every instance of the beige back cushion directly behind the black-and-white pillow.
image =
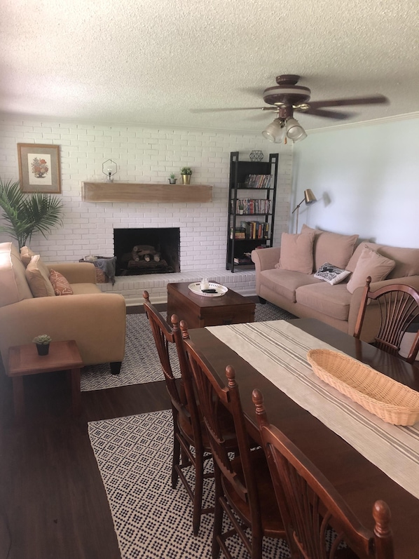
<svg viewBox="0 0 419 559">
<path fill-rule="evenodd" d="M 315 234 L 313 244 L 314 269 L 318 270 L 324 262 L 330 262 L 338 268 L 347 269 L 347 264 L 354 252 L 358 235 L 341 235 L 339 233 L 322 231 L 321 229 L 312 229 L 308 225 L 303 224 L 301 228 L 302 234 L 312 232 Z"/>
</svg>

